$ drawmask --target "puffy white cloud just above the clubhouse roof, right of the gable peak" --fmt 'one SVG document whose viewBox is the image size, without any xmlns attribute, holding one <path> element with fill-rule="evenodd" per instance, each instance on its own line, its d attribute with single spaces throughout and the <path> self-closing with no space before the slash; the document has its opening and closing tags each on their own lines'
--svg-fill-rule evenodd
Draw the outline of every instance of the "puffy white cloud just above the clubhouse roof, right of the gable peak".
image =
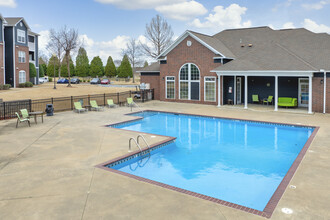
<svg viewBox="0 0 330 220">
<path fill-rule="evenodd" d="M 197 28 L 209 28 L 213 30 L 221 30 L 226 28 L 242 28 L 251 27 L 251 21 L 242 22 L 242 15 L 245 14 L 247 8 L 238 4 L 231 4 L 227 8 L 216 6 L 213 9 L 214 14 L 209 14 L 205 18 L 205 22 L 194 19 L 192 26 Z"/>
</svg>

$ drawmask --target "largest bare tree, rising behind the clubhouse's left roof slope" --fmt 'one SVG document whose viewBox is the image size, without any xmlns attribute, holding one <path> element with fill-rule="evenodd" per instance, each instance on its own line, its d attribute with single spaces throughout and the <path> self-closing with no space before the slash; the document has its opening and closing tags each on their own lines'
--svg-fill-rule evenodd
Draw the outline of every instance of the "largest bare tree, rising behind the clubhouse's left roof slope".
<svg viewBox="0 0 330 220">
<path fill-rule="evenodd" d="M 164 18 L 156 15 L 149 24 L 146 24 L 144 36 L 152 44 L 150 47 L 147 44 L 141 44 L 144 53 L 147 56 L 156 58 L 171 44 L 173 31 Z"/>
</svg>

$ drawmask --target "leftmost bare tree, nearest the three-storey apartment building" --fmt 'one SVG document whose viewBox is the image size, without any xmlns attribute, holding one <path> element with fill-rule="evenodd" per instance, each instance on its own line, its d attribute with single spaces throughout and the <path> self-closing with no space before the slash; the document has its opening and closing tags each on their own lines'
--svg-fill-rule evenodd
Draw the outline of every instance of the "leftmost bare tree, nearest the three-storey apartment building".
<svg viewBox="0 0 330 220">
<path fill-rule="evenodd" d="M 58 58 L 58 66 L 61 67 L 61 61 L 64 56 L 64 50 L 61 42 L 60 33 L 54 29 L 49 31 L 49 41 L 47 44 L 47 49 L 53 54 L 56 54 Z M 61 68 L 58 69 L 58 77 L 61 77 Z"/>
</svg>

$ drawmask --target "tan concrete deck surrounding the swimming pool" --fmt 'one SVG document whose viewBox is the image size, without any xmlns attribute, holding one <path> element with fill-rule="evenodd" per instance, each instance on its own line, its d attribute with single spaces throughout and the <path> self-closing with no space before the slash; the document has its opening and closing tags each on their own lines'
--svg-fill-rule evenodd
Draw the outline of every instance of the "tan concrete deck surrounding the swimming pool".
<svg viewBox="0 0 330 220">
<path fill-rule="evenodd" d="M 142 109 L 301 123 L 320 129 L 271 219 L 330 218 L 330 115 L 258 112 L 152 101 Z M 138 111 L 138 109 L 135 109 Z M 104 127 L 127 107 L 57 113 L 31 128 L 0 121 L 0 219 L 265 219 L 96 168 L 124 155 L 135 132 Z M 33 121 L 33 120 L 32 120 Z M 39 120 L 40 121 L 40 120 Z M 151 138 L 150 144 L 165 138 Z M 292 214 L 281 209 L 290 208 Z"/>
</svg>

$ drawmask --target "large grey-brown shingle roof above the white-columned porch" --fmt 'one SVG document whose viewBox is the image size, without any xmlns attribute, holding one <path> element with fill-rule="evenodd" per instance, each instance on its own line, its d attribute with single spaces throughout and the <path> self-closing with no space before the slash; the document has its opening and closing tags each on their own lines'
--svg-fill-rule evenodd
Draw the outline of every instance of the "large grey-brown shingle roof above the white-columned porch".
<svg viewBox="0 0 330 220">
<path fill-rule="evenodd" d="M 316 34 L 304 28 L 259 27 L 225 30 L 213 37 L 223 42 L 236 57 L 215 70 L 330 70 L 328 34 Z"/>
</svg>

